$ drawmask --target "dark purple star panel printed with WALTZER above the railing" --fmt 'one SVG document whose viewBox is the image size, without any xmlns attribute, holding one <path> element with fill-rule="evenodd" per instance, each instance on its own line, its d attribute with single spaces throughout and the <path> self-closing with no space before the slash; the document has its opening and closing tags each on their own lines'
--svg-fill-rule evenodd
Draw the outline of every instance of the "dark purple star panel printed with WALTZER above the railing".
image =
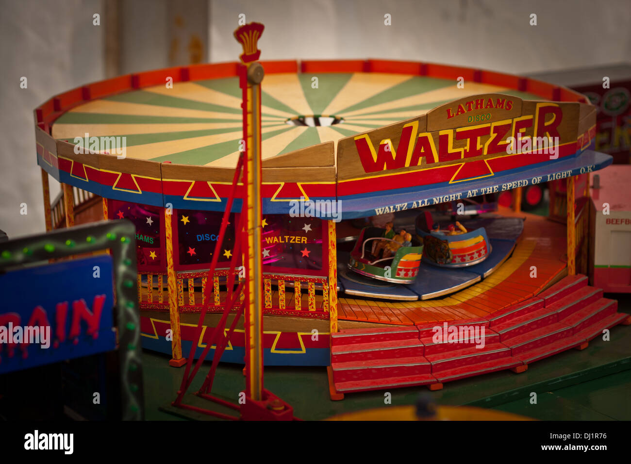
<svg viewBox="0 0 631 464">
<path fill-rule="evenodd" d="M 322 256 L 327 256 L 326 247 L 327 241 L 322 241 L 321 219 L 263 215 L 264 271 L 282 273 L 305 270 L 309 274 L 319 275 L 322 273 Z"/>
</svg>

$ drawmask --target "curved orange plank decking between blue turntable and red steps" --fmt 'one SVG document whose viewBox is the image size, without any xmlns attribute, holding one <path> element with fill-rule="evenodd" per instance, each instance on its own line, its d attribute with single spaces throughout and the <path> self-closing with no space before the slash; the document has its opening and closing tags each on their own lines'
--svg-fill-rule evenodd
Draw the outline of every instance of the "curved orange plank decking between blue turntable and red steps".
<svg viewBox="0 0 631 464">
<path fill-rule="evenodd" d="M 441 299 L 395 302 L 339 298 L 338 319 L 394 325 L 414 325 L 485 317 L 519 303 L 565 275 L 567 265 L 565 225 L 529 213 L 524 232 L 510 258 L 487 278 Z M 531 277 L 536 268 L 536 277 Z"/>
</svg>

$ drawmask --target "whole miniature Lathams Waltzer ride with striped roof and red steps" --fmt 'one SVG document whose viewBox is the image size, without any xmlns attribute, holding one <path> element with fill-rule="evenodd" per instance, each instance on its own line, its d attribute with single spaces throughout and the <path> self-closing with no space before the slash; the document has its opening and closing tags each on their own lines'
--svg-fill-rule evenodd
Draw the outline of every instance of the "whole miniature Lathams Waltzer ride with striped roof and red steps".
<svg viewBox="0 0 631 464">
<path fill-rule="evenodd" d="M 177 405 L 207 357 L 199 396 L 218 400 L 219 360 L 245 359 L 245 394 L 261 408 L 242 417 L 273 400 L 290 419 L 262 388 L 263 364 L 327 366 L 338 399 L 440 388 L 523 371 L 629 322 L 587 285 L 589 208 L 558 223 L 517 201 L 461 219 L 463 234 L 434 230 L 426 211 L 513 189 L 521 198 L 548 181 L 567 183 L 567 205 L 586 205 L 575 176 L 589 185 L 611 157 L 593 150 L 584 96 L 442 64 L 259 62 L 261 32 L 235 33 L 241 63 L 120 76 L 35 110 L 47 229 L 80 213 L 136 225 L 143 347 L 186 364 Z M 122 137 L 123 156 L 99 145 Z M 48 174 L 63 185 L 52 206 Z M 348 220 L 410 210 L 412 230 L 368 226 L 338 240 Z M 443 324 L 484 328 L 485 348 L 466 335 L 433 343 Z"/>
</svg>

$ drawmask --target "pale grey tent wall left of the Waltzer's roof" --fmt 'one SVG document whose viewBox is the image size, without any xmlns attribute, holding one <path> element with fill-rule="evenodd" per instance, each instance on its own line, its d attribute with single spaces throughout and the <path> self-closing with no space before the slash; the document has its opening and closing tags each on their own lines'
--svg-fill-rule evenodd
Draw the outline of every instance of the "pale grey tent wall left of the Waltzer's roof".
<svg viewBox="0 0 631 464">
<path fill-rule="evenodd" d="M 0 229 L 45 230 L 33 109 L 56 93 L 105 78 L 102 1 L 0 0 Z M 20 88 L 20 78 L 27 88 Z M 59 183 L 50 177 L 51 199 Z M 20 214 L 21 203 L 27 214 Z"/>
</svg>

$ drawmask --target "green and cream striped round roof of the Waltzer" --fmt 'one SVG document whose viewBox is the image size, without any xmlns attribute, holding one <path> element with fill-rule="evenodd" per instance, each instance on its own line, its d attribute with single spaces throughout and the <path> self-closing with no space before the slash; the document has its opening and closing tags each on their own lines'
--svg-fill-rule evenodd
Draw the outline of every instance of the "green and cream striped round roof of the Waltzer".
<svg viewBox="0 0 631 464">
<path fill-rule="evenodd" d="M 266 75 L 262 81 L 262 158 L 325 141 L 337 141 L 419 116 L 456 98 L 506 93 L 536 95 L 502 86 L 386 73 Z M 314 88 L 316 87 L 316 88 Z M 175 164 L 234 167 L 242 139 L 237 77 L 174 83 L 92 100 L 64 113 L 52 126 L 57 140 L 125 136 L 127 158 Z M 343 118 L 334 126 L 295 126 L 300 115 Z"/>
</svg>

